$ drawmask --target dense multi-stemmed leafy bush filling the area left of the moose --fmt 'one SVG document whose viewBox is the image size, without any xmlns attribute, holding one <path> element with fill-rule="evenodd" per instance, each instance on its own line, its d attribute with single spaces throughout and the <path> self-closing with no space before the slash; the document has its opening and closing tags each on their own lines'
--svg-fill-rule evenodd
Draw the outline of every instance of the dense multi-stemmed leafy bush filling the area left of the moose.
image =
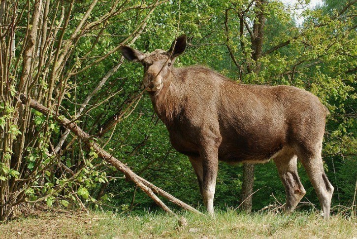
<svg viewBox="0 0 357 239">
<path fill-rule="evenodd" d="M 63 148 L 68 132 L 61 131 L 55 118 L 71 100 L 77 107 L 77 100 L 81 99 L 71 94 L 82 88 L 83 78 L 115 59 L 121 45 L 135 42 L 154 10 L 166 1 L 137 4 L 115 0 L 98 4 L 98 0 L 1 0 L 0 220 L 6 220 L 16 205 L 40 201 L 52 205 L 55 196 L 62 198 L 63 205 L 69 201 L 83 205 L 78 196 L 90 198 L 86 187 L 90 188 L 95 180 L 107 181 L 105 172 L 94 170 L 96 164 L 101 164 L 96 162 L 94 152 L 89 154 L 88 161 L 83 157 L 66 159 L 66 150 L 75 143 L 75 136 Z M 136 20 L 128 24 L 128 18 Z M 123 21 L 126 23 L 113 24 Z M 115 37 L 118 31 L 124 35 Z M 87 113 L 117 94 L 109 93 L 104 101 L 86 107 L 122 64 L 120 60 L 114 63 L 97 86 L 91 85 L 92 92 L 84 92 L 87 97 L 72 114 L 73 122 L 81 120 L 84 109 Z M 55 110 L 55 116 L 23 105 L 20 94 Z M 137 100 L 130 98 L 123 115 L 130 112 Z M 102 131 L 112 127 L 114 124 Z M 80 142 L 78 146 L 77 152 L 83 155 Z M 74 161 L 76 168 L 70 169 Z M 51 193 L 63 185 L 67 187 Z"/>
</svg>

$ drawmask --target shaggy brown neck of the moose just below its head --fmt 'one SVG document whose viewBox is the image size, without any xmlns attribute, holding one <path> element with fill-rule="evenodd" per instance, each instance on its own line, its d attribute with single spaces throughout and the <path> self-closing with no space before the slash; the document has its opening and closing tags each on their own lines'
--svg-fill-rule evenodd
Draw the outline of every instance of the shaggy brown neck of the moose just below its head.
<svg viewBox="0 0 357 239">
<path fill-rule="evenodd" d="M 183 107 L 185 92 L 180 79 L 180 68 L 172 68 L 159 92 L 149 93 L 155 112 L 166 126 L 170 126 Z"/>
</svg>

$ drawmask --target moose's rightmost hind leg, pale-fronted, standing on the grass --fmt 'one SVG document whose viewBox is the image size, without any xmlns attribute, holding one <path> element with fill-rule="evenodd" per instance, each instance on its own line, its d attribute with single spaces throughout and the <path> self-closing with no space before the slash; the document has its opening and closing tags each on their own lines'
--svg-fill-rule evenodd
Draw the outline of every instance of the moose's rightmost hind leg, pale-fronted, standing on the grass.
<svg viewBox="0 0 357 239">
<path fill-rule="evenodd" d="M 328 219 L 330 215 L 331 198 L 333 186 L 328 181 L 324 171 L 324 165 L 321 158 L 321 150 L 317 155 L 305 156 L 300 160 L 310 178 L 319 198 L 321 207 L 324 211 L 324 218 Z"/>
</svg>

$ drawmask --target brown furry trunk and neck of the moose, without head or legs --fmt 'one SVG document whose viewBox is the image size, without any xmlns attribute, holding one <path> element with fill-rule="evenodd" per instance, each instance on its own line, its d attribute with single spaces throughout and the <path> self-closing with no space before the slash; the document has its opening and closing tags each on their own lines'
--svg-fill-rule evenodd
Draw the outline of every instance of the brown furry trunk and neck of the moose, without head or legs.
<svg viewBox="0 0 357 239">
<path fill-rule="evenodd" d="M 312 152 L 324 134 L 325 106 L 304 90 L 237 84 L 203 67 L 173 68 L 170 78 L 151 100 L 183 154 L 213 140 L 222 161 L 264 161 L 284 146 Z"/>
</svg>

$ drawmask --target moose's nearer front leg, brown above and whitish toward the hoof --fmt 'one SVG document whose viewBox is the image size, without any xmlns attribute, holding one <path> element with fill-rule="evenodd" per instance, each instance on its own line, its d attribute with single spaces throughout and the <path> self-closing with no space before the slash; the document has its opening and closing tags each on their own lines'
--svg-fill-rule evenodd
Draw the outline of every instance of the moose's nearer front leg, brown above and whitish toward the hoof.
<svg viewBox="0 0 357 239">
<path fill-rule="evenodd" d="M 202 197 L 207 206 L 207 212 L 214 215 L 213 199 L 218 171 L 218 147 L 216 145 L 206 146 L 201 150 L 200 155 L 203 169 Z"/>
</svg>

